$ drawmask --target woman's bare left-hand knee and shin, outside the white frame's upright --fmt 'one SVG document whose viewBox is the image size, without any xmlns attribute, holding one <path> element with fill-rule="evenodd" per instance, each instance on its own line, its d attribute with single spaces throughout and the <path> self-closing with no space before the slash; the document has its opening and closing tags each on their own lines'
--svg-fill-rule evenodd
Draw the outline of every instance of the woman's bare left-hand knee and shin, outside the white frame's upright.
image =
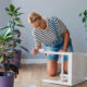
<svg viewBox="0 0 87 87">
<path fill-rule="evenodd" d="M 54 60 L 49 60 L 47 63 L 47 71 L 50 76 L 54 76 L 58 72 L 58 62 Z"/>
</svg>

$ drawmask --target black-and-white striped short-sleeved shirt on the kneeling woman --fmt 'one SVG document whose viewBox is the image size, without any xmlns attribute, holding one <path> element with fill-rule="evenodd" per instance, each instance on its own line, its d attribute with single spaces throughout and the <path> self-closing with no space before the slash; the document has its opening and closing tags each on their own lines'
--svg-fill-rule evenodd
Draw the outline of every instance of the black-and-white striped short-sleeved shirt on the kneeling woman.
<svg viewBox="0 0 87 87">
<path fill-rule="evenodd" d="M 37 29 L 34 28 L 33 30 L 33 35 L 35 37 L 35 45 L 51 45 L 53 44 L 58 38 L 55 36 L 55 33 L 53 30 L 53 26 L 51 23 L 51 17 L 46 18 L 47 21 L 47 28 L 44 29 Z M 64 25 L 64 23 L 59 20 L 58 17 L 53 18 L 54 23 L 55 23 L 55 27 L 58 30 L 59 36 L 61 36 L 67 28 Z"/>
</svg>

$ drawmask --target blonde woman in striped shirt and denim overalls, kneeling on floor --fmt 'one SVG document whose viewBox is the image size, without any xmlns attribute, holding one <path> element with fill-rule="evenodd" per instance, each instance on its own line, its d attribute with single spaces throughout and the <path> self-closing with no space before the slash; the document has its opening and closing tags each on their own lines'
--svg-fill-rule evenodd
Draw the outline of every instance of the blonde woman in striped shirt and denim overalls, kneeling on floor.
<svg viewBox="0 0 87 87">
<path fill-rule="evenodd" d="M 40 14 L 32 12 L 28 22 L 35 27 L 33 34 L 35 36 L 35 47 L 33 54 L 38 54 L 37 49 L 41 49 L 42 45 L 46 50 L 59 52 L 73 52 L 70 32 L 61 20 L 58 17 L 44 18 Z M 47 71 L 50 76 L 54 76 L 58 72 L 59 55 L 47 55 Z M 64 73 L 67 73 L 67 57 L 64 55 Z"/>
</svg>

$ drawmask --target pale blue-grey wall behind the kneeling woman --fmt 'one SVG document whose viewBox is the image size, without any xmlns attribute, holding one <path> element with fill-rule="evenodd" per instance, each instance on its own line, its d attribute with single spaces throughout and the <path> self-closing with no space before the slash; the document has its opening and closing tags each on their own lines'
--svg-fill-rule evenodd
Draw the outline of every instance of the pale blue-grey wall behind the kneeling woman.
<svg viewBox="0 0 87 87">
<path fill-rule="evenodd" d="M 79 12 L 87 9 L 87 0 L 13 0 L 13 4 L 22 8 L 22 21 L 25 28 L 22 29 L 23 45 L 29 49 L 34 47 L 34 39 L 32 36 L 32 26 L 28 24 L 27 16 L 32 11 L 40 13 L 42 16 L 58 16 L 67 26 L 75 52 L 87 52 L 87 33 L 78 16 Z M 44 58 L 44 55 L 32 55 L 24 52 L 24 58 Z"/>
</svg>

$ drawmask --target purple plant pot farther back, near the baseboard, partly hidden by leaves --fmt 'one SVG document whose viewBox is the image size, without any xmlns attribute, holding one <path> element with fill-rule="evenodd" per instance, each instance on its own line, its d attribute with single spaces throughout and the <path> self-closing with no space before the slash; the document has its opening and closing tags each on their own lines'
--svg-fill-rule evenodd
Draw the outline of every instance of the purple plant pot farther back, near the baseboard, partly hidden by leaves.
<svg viewBox="0 0 87 87">
<path fill-rule="evenodd" d="M 13 55 L 13 60 L 10 60 L 11 64 L 14 64 L 16 67 L 21 66 L 21 55 L 22 55 L 22 51 L 17 50 L 17 53 L 14 53 Z"/>
</svg>

